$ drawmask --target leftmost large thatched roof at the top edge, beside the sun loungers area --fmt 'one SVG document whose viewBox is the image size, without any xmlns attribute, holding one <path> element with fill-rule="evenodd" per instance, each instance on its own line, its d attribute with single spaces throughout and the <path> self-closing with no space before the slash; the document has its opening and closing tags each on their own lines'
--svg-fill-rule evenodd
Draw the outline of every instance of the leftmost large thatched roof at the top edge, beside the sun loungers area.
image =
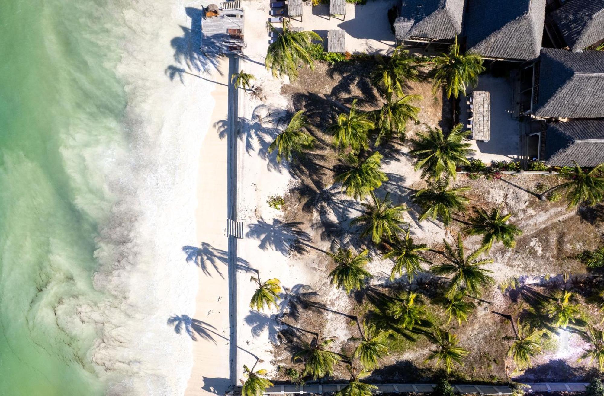
<svg viewBox="0 0 604 396">
<path fill-rule="evenodd" d="M 464 0 L 403 0 L 396 39 L 454 39 L 461 33 L 463 8 Z"/>
</svg>

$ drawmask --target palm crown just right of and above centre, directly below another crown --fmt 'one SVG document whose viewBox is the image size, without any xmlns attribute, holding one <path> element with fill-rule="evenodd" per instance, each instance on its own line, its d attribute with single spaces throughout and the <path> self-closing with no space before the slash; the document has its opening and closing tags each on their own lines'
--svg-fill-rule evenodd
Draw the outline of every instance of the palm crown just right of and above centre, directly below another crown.
<svg viewBox="0 0 604 396">
<path fill-rule="evenodd" d="M 360 199 L 388 180 L 388 176 L 380 170 L 382 155 L 375 152 L 365 159 L 359 159 L 354 153 L 342 156 L 342 162 L 347 170 L 335 176 L 335 182 L 342 183 L 342 190 L 354 199 Z"/>
</svg>

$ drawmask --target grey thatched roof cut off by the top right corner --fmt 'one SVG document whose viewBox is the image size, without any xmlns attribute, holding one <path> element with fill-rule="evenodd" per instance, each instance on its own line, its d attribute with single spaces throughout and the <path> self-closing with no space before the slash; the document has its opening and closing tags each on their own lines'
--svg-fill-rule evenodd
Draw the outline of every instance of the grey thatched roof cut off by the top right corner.
<svg viewBox="0 0 604 396">
<path fill-rule="evenodd" d="M 551 18 L 571 51 L 604 41 L 604 0 L 568 0 Z"/>
</svg>

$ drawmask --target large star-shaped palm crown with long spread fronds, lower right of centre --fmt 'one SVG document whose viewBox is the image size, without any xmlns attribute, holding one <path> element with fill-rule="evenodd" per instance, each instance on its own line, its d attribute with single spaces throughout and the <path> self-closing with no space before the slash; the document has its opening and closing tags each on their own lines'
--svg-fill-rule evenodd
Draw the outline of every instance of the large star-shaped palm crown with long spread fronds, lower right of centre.
<svg viewBox="0 0 604 396">
<path fill-rule="evenodd" d="M 430 270 L 435 275 L 453 275 L 447 292 L 449 297 L 454 296 L 463 287 L 467 289 L 471 296 L 480 296 L 483 286 L 495 283 L 495 279 L 488 275 L 493 271 L 482 267 L 484 264 L 492 263 L 493 260 L 490 258 L 480 260 L 480 256 L 487 250 L 486 246 L 481 246 L 466 257 L 463 240 L 459 232 L 457 233 L 457 248 L 455 251 L 448 241 L 443 240 L 443 242 L 445 243 L 443 256 L 448 260 L 448 263 L 436 264 Z"/>
</svg>

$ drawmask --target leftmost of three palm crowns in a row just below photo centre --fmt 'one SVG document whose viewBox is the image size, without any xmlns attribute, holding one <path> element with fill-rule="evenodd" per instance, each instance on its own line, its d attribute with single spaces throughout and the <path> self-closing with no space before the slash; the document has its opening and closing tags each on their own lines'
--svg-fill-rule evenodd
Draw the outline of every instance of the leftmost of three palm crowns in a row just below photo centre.
<svg viewBox="0 0 604 396">
<path fill-rule="evenodd" d="M 347 250 L 339 248 L 336 254 L 327 253 L 336 263 L 335 269 L 329 273 L 329 277 L 332 278 L 331 283 L 344 288 L 346 293 L 350 293 L 351 290 L 361 290 L 365 279 L 371 278 L 371 274 L 364 269 L 367 265 L 368 253 L 369 251 L 365 249 L 356 254 L 350 248 Z"/>
</svg>

